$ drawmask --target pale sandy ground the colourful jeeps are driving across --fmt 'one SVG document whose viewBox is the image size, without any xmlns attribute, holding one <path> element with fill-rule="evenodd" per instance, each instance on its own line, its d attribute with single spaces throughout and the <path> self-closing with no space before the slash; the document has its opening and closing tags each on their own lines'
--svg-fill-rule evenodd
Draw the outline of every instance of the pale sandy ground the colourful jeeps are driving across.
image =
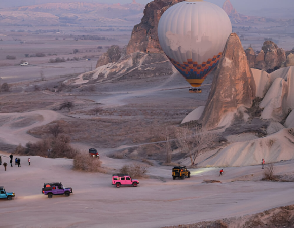
<svg viewBox="0 0 294 228">
<path fill-rule="evenodd" d="M 1 185 L 16 194 L 12 201 L 0 200 L 0 227 L 150 228 L 242 216 L 294 203 L 294 183 L 252 181 L 261 179 L 260 166 L 226 168 L 221 177 L 218 168 L 193 169 L 192 177 L 185 180 L 172 180 L 171 167 L 151 167 L 151 178 L 140 179 L 137 188 L 116 188 L 109 174 L 72 171 L 69 159 L 30 158 L 31 166 L 23 156 L 22 167 L 0 169 Z M 279 172 L 294 170 L 293 161 L 276 167 Z M 242 178 L 251 181 L 238 181 Z M 202 183 L 207 179 L 222 183 Z M 72 187 L 74 194 L 48 199 L 41 194 L 42 185 L 52 181 Z"/>
</svg>

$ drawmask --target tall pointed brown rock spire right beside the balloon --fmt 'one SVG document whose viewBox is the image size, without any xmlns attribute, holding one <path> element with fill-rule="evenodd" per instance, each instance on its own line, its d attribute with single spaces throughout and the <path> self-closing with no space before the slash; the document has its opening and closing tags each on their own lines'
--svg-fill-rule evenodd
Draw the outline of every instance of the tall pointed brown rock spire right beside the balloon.
<svg viewBox="0 0 294 228">
<path fill-rule="evenodd" d="M 236 33 L 232 33 L 215 72 L 201 116 L 202 126 L 213 129 L 230 124 L 238 108 L 252 106 L 255 92 L 255 81 L 241 41 Z"/>
</svg>

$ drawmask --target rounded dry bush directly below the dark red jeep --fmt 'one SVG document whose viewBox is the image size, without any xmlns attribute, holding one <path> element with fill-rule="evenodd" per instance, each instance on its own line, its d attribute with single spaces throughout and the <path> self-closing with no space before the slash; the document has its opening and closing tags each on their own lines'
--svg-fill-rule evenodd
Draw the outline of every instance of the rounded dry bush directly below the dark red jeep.
<svg viewBox="0 0 294 228">
<path fill-rule="evenodd" d="M 89 156 L 88 152 L 78 153 L 73 158 L 73 169 L 86 172 L 101 172 L 101 161 Z"/>
</svg>

